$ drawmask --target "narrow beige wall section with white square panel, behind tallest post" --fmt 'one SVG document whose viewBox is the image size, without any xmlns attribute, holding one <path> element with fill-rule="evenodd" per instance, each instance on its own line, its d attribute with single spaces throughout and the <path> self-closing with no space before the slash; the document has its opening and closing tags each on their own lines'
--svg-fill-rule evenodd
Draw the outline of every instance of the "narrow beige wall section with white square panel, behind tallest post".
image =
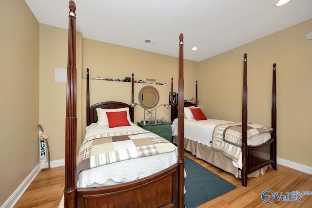
<svg viewBox="0 0 312 208">
<path fill-rule="evenodd" d="M 79 140 L 81 138 L 81 40 L 81 33 L 77 33 L 77 138 Z M 39 122 L 49 135 L 51 161 L 65 158 L 66 83 L 55 82 L 55 68 L 67 68 L 67 44 L 67 29 L 40 24 Z M 78 147 L 79 145 L 78 142 Z"/>
</svg>

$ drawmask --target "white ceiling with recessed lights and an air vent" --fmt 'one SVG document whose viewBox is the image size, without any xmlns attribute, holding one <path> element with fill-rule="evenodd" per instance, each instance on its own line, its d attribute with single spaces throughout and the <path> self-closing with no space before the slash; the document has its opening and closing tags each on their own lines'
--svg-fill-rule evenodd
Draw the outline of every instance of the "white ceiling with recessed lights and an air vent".
<svg viewBox="0 0 312 208">
<path fill-rule="evenodd" d="M 75 0 L 76 26 L 83 38 L 173 57 L 183 33 L 184 58 L 201 61 L 312 18 L 312 0 L 276 1 Z M 25 2 L 39 23 L 68 28 L 68 0 Z"/>
</svg>

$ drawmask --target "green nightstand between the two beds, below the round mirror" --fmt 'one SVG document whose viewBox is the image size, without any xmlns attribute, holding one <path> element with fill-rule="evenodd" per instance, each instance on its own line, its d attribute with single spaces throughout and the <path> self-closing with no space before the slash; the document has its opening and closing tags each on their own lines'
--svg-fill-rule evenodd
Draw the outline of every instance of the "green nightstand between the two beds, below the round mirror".
<svg viewBox="0 0 312 208">
<path fill-rule="evenodd" d="M 137 122 L 137 126 L 148 130 L 150 132 L 156 133 L 157 135 L 167 139 L 168 141 L 172 142 L 172 129 L 171 129 L 171 122 L 165 123 L 153 123 L 153 124 L 142 124 L 141 122 Z"/>
</svg>

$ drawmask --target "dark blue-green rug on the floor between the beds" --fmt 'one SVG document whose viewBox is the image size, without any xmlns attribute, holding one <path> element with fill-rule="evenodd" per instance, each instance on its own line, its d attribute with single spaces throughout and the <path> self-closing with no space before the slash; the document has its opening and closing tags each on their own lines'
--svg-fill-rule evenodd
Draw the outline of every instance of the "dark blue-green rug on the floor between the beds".
<svg viewBox="0 0 312 208">
<path fill-rule="evenodd" d="M 222 194 L 225 194 L 236 186 L 216 175 L 212 171 L 199 165 L 192 159 L 184 156 L 185 161 L 185 206 L 196 208 Z"/>
</svg>

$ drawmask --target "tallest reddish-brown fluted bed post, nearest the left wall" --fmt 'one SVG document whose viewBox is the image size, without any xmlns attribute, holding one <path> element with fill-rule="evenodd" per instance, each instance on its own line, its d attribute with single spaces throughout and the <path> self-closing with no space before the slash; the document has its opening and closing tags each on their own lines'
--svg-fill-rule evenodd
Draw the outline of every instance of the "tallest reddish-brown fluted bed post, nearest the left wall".
<svg viewBox="0 0 312 208">
<path fill-rule="evenodd" d="M 76 144 L 77 144 L 77 69 L 76 69 L 76 4 L 69 1 L 67 96 L 65 126 L 65 186 L 64 207 L 74 208 L 76 200 Z"/>
</svg>

